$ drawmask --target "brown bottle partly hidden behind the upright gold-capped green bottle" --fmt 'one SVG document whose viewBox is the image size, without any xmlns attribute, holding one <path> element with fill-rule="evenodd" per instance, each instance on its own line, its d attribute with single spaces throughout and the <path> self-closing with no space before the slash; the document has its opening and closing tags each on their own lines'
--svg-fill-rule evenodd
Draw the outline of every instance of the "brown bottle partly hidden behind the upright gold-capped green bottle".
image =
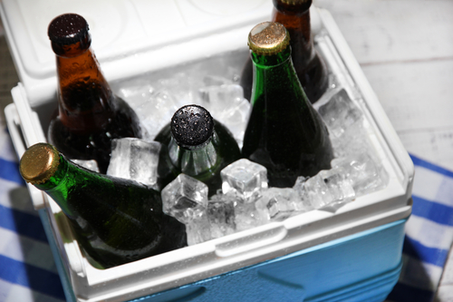
<svg viewBox="0 0 453 302">
<path fill-rule="evenodd" d="M 273 0 L 272 21 L 283 24 L 291 37 L 291 49 L 295 72 L 310 102 L 319 100 L 329 85 L 327 68 L 313 47 L 310 24 L 312 0 Z M 241 85 L 250 100 L 253 82 L 253 63 L 247 60 Z"/>
</svg>

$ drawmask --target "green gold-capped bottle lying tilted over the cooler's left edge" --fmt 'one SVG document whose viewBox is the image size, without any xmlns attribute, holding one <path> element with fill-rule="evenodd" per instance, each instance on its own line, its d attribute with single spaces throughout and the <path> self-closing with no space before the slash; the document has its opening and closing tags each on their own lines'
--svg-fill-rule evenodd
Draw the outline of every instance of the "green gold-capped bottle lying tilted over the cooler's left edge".
<svg viewBox="0 0 453 302">
<path fill-rule="evenodd" d="M 58 203 L 97 267 L 111 268 L 187 245 L 184 225 L 162 212 L 159 192 L 136 181 L 85 170 L 47 143 L 24 152 L 20 172 Z"/>
</svg>

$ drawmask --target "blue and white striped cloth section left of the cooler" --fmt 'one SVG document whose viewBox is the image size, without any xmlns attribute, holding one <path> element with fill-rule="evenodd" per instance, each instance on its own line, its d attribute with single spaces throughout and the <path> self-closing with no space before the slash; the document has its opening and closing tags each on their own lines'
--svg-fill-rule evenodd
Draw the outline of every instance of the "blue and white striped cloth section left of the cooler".
<svg viewBox="0 0 453 302">
<path fill-rule="evenodd" d="M 5 126 L 0 125 L 0 301 L 65 300 L 51 248 Z"/>
</svg>

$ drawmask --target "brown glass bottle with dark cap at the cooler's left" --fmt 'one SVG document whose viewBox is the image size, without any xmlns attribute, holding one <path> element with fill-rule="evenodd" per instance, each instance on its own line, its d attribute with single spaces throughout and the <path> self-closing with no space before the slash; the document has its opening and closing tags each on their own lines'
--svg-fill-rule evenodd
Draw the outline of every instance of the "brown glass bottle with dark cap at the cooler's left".
<svg viewBox="0 0 453 302">
<path fill-rule="evenodd" d="M 81 15 L 56 17 L 48 35 L 56 55 L 58 79 L 58 111 L 50 123 L 48 140 L 70 159 L 97 161 L 101 173 L 105 173 L 111 140 L 140 138 L 139 119 L 111 92 Z"/>
</svg>

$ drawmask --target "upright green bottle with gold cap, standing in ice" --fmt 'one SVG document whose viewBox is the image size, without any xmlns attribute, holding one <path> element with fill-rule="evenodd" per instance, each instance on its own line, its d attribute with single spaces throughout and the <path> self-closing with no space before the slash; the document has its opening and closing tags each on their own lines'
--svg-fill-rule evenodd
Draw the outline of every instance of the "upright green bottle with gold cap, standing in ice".
<svg viewBox="0 0 453 302">
<path fill-rule="evenodd" d="M 294 71 L 282 24 L 257 24 L 248 36 L 255 79 L 242 154 L 267 168 L 271 187 L 331 168 L 329 133 Z"/>
</svg>

